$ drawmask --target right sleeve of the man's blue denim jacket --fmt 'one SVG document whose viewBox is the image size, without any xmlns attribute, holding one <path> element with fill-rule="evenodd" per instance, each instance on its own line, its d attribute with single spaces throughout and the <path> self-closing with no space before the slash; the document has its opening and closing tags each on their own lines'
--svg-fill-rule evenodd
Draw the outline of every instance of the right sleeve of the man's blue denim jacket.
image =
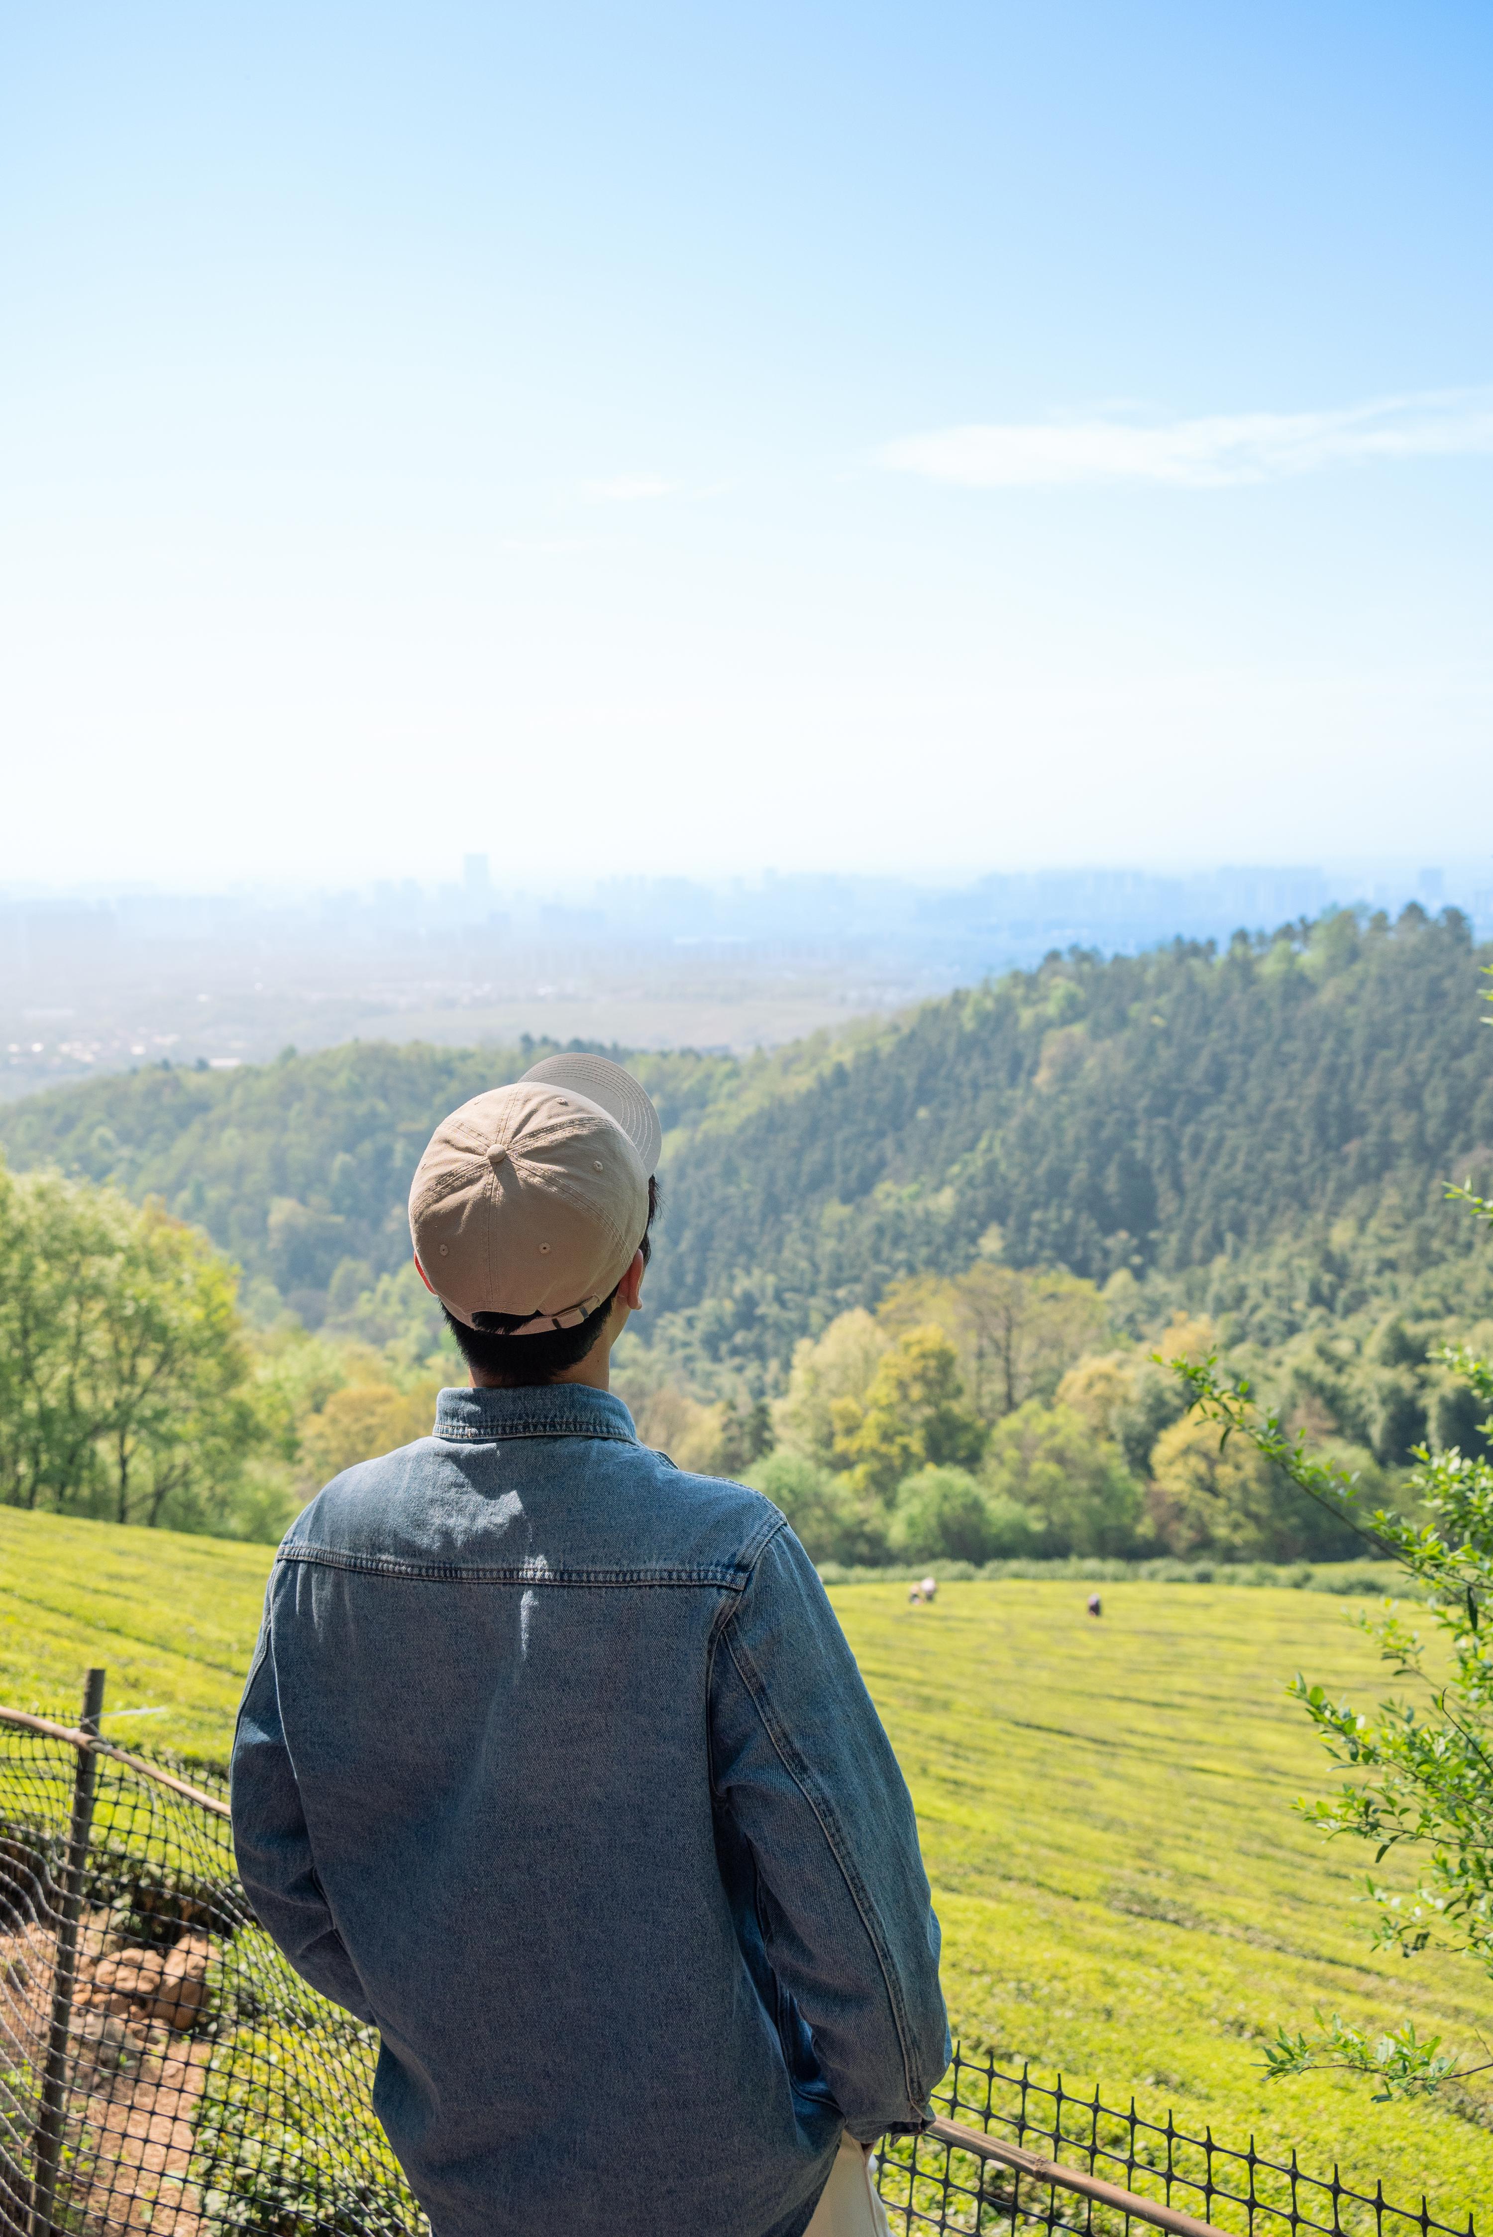
<svg viewBox="0 0 1493 2237">
<path fill-rule="evenodd" d="M 769 1962 L 849 2134 L 921 2127 L 950 2038 L 912 1799 L 787 1528 L 715 1644 L 711 1774 L 755 1863 Z"/>
</svg>

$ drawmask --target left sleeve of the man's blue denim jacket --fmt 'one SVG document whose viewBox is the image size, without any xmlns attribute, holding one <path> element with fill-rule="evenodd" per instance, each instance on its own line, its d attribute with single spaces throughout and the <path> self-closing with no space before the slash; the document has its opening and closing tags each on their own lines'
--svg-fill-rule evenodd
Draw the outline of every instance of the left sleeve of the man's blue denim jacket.
<svg viewBox="0 0 1493 2237">
<path fill-rule="evenodd" d="M 311 1834 L 279 1722 L 268 1611 L 239 1702 L 230 1799 L 239 1879 L 255 1917 L 302 1980 L 353 2018 L 378 2024 L 311 1861 Z"/>
</svg>

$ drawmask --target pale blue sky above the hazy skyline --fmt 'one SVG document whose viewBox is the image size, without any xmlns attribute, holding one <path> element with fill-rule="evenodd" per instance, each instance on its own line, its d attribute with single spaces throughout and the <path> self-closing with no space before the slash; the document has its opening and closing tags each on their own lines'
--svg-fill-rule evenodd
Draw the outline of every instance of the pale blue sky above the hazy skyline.
<svg viewBox="0 0 1493 2237">
<path fill-rule="evenodd" d="M 1493 850 L 1491 65 L 0 11 L 0 875 Z"/>
</svg>

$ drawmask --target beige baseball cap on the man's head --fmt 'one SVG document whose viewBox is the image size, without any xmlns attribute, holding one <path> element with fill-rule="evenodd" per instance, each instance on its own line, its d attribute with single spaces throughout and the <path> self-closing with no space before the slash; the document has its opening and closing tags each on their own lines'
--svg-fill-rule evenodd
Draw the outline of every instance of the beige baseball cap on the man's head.
<svg viewBox="0 0 1493 2237">
<path fill-rule="evenodd" d="M 659 1114 L 606 1056 L 550 1056 L 443 1118 L 409 1188 L 409 1235 L 445 1306 L 574 1329 L 648 1226 Z"/>
</svg>

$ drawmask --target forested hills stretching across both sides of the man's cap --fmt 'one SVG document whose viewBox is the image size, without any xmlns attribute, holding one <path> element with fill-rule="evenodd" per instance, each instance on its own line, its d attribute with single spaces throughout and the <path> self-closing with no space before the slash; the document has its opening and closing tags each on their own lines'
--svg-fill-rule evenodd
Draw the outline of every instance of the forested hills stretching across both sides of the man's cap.
<svg viewBox="0 0 1493 2237">
<path fill-rule="evenodd" d="M 1493 1036 L 1453 910 L 1350 915 L 1227 953 L 1048 957 L 843 1045 L 637 1058 L 659 1098 L 650 1277 L 704 1356 L 782 1358 L 896 1275 L 1010 1264 L 1180 1273 L 1395 1212 L 1421 1248 L 1439 1183 L 1493 1161 Z M 532 1058 L 353 1045 L 235 1074 L 150 1069 L 0 1114 L 13 1163 L 159 1192 L 315 1306 L 409 1248 L 434 1121 Z"/>
</svg>

